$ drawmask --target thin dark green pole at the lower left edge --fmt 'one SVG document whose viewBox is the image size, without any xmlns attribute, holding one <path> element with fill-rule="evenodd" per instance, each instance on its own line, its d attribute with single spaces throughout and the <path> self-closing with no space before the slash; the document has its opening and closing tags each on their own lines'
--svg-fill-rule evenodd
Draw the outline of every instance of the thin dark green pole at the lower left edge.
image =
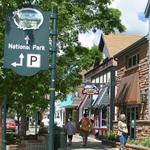
<svg viewBox="0 0 150 150">
<path fill-rule="evenodd" d="M 4 120 L 4 128 L 3 128 L 3 150 L 6 150 L 6 117 L 7 117 L 7 96 L 4 96 L 3 102 L 3 120 Z"/>
</svg>

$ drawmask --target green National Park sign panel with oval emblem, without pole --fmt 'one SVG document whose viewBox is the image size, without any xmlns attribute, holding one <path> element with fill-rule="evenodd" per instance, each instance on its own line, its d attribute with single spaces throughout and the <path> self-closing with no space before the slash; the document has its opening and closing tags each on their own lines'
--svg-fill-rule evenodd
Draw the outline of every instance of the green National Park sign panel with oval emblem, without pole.
<svg viewBox="0 0 150 150">
<path fill-rule="evenodd" d="M 6 16 L 4 67 L 22 76 L 47 70 L 50 12 L 22 8 Z"/>
</svg>

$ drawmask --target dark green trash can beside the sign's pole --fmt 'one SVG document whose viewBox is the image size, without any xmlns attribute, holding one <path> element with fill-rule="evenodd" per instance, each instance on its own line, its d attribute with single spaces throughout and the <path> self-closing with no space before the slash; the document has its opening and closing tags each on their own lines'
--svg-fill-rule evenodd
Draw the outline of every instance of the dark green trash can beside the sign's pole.
<svg viewBox="0 0 150 150">
<path fill-rule="evenodd" d="M 54 150 L 67 149 L 67 131 L 64 128 L 56 127 L 54 129 Z"/>
</svg>

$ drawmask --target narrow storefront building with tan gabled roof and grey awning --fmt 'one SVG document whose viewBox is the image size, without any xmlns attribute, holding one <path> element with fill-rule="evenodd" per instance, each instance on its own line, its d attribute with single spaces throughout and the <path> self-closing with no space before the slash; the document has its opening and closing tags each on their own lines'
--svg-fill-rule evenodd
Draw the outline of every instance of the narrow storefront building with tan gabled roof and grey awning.
<svg viewBox="0 0 150 150">
<path fill-rule="evenodd" d="M 115 111 L 115 81 L 116 61 L 113 55 L 139 39 L 132 35 L 101 35 L 99 50 L 102 52 L 102 61 L 85 74 L 85 80 L 90 81 L 99 88 L 99 95 L 93 95 L 91 110 L 94 115 L 94 130 L 104 135 L 113 127 L 113 120 L 117 117 Z M 87 99 L 88 100 L 88 99 Z"/>
</svg>

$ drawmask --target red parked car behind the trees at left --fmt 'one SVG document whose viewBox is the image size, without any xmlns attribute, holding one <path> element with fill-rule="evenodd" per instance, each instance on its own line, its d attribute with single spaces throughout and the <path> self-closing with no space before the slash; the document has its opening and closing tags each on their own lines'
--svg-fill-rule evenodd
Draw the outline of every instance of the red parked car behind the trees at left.
<svg viewBox="0 0 150 150">
<path fill-rule="evenodd" d="M 16 132 L 16 123 L 14 119 L 6 119 L 6 132 Z"/>
</svg>

